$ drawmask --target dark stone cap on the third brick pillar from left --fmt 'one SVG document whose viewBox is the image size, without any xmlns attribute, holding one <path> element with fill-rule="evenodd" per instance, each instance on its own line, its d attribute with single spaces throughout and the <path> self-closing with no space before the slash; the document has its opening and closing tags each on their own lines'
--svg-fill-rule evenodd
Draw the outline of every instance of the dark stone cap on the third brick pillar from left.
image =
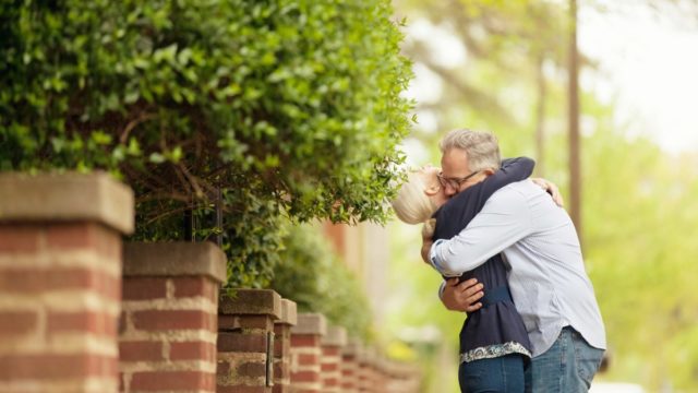
<svg viewBox="0 0 698 393">
<path fill-rule="evenodd" d="M 272 315 L 281 318 L 281 297 L 272 289 L 232 289 L 229 296 L 226 289 L 218 298 L 218 312 L 232 315 Z"/>
</svg>

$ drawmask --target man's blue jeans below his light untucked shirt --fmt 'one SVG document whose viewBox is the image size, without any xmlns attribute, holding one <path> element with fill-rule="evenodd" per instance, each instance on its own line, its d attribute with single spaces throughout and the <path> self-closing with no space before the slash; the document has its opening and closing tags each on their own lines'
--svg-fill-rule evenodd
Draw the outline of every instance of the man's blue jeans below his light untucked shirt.
<svg viewBox="0 0 698 393">
<path fill-rule="evenodd" d="M 526 368 L 527 393 L 586 393 L 601 365 L 603 349 L 590 346 L 567 326 L 555 344 Z"/>
</svg>

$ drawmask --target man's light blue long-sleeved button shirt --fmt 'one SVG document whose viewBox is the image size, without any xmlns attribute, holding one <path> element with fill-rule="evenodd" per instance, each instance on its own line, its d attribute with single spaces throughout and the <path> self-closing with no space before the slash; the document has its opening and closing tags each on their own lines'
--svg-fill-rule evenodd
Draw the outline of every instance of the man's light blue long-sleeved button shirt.
<svg viewBox="0 0 698 393">
<path fill-rule="evenodd" d="M 591 346 L 606 348 L 575 226 L 567 212 L 530 180 L 495 192 L 460 234 L 434 242 L 430 260 L 445 276 L 459 276 L 498 252 L 509 264 L 512 297 L 534 357 L 547 350 L 566 325 Z"/>
</svg>

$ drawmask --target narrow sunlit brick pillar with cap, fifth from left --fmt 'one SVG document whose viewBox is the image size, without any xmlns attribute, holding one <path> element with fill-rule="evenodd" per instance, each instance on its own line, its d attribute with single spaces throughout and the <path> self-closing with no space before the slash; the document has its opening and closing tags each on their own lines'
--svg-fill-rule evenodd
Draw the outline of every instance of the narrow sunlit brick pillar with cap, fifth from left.
<svg viewBox="0 0 698 393">
<path fill-rule="evenodd" d="M 322 338 L 327 333 L 325 315 L 301 313 L 291 329 L 291 385 L 293 392 L 320 393 Z"/>
</svg>

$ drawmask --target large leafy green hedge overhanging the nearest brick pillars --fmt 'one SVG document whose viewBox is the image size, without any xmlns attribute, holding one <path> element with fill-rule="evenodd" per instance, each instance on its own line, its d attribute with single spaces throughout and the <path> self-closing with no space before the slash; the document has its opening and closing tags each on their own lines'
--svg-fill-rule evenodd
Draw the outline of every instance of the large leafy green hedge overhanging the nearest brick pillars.
<svg viewBox="0 0 698 393">
<path fill-rule="evenodd" d="M 261 286 L 281 222 L 386 216 L 411 78 L 390 16 L 387 0 L 3 1 L 0 170 L 109 170 L 140 239 L 181 238 L 193 207 L 230 285 Z"/>
</svg>

